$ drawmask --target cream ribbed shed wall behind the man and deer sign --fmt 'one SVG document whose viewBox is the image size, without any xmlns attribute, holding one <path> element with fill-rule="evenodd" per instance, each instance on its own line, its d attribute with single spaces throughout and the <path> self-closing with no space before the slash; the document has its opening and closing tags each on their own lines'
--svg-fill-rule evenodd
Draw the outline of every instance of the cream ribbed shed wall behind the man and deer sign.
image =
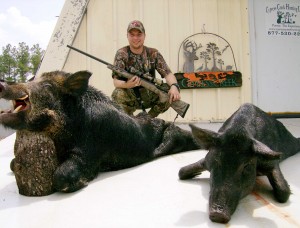
<svg viewBox="0 0 300 228">
<path fill-rule="evenodd" d="M 69 44 L 112 63 L 116 50 L 128 43 L 128 23 L 139 19 L 146 29 L 145 45 L 157 48 L 175 73 L 178 49 L 186 37 L 203 29 L 218 34 L 233 48 L 243 85 L 182 90 L 182 100 L 191 106 L 185 118 L 179 117 L 178 122 L 224 120 L 242 103 L 251 102 L 247 7 L 247 0 L 90 0 L 73 43 Z M 111 95 L 114 89 L 111 71 L 105 65 L 71 51 L 63 70 L 83 69 L 93 72 L 91 85 Z M 173 120 L 175 115 L 170 109 L 159 117 Z"/>
</svg>

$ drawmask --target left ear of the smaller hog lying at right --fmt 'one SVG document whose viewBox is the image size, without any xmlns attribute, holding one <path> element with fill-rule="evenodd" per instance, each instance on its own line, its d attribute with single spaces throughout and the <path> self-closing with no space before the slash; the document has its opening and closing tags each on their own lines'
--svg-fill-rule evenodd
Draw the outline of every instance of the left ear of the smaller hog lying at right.
<svg viewBox="0 0 300 228">
<path fill-rule="evenodd" d="M 204 149 L 209 149 L 209 147 L 216 144 L 218 133 L 199 128 L 194 124 L 190 124 L 190 127 L 192 128 L 193 136 Z"/>
</svg>

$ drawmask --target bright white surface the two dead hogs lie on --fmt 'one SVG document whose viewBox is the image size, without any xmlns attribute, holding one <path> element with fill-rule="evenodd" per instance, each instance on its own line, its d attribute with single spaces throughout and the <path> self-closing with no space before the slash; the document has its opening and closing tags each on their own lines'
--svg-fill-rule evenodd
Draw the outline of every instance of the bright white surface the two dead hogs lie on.
<svg viewBox="0 0 300 228">
<path fill-rule="evenodd" d="M 286 125 L 300 137 L 299 120 L 287 120 Z M 14 139 L 15 134 L 0 141 L 0 227 L 300 227 L 300 153 L 281 163 L 292 190 L 287 203 L 274 201 L 269 182 L 260 178 L 256 191 L 242 199 L 230 222 L 222 225 L 208 217 L 209 172 L 193 180 L 178 179 L 179 169 L 203 158 L 204 150 L 100 173 L 75 193 L 26 197 L 19 195 L 9 168 Z"/>
</svg>

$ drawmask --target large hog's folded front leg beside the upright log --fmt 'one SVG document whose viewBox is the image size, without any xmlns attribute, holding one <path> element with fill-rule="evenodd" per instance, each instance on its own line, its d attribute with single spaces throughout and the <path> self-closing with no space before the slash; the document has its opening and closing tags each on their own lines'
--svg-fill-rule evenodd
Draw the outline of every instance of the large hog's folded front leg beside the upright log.
<svg viewBox="0 0 300 228">
<path fill-rule="evenodd" d="M 89 178 L 83 174 L 83 165 L 76 157 L 63 162 L 54 173 L 54 188 L 60 192 L 75 192 L 87 186 Z"/>
</svg>

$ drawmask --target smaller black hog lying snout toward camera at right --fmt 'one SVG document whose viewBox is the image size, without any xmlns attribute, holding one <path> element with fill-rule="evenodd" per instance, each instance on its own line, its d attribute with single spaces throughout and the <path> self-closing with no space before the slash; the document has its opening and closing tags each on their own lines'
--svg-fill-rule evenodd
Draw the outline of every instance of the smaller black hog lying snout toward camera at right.
<svg viewBox="0 0 300 228">
<path fill-rule="evenodd" d="M 227 223 L 241 198 L 249 194 L 257 175 L 266 175 L 275 199 L 284 203 L 290 188 L 279 162 L 300 151 L 295 138 L 281 122 L 252 104 L 242 105 L 218 133 L 190 125 L 206 157 L 179 171 L 180 179 L 210 172 L 209 218 Z"/>
</svg>

